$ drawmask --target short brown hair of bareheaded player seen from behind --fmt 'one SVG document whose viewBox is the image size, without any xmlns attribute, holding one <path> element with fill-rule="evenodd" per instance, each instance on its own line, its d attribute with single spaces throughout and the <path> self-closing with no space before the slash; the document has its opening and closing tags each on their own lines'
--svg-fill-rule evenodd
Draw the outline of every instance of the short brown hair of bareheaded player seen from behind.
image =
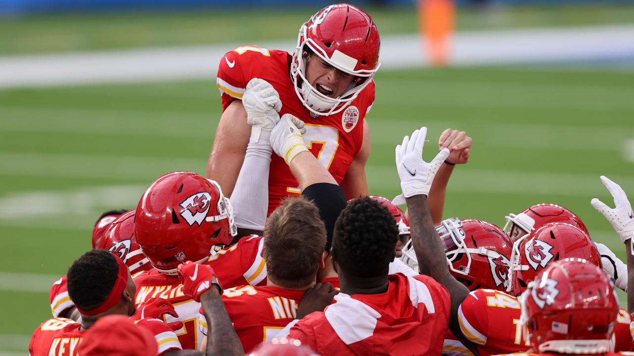
<svg viewBox="0 0 634 356">
<path fill-rule="evenodd" d="M 303 196 L 283 200 L 264 224 L 268 278 L 287 288 L 311 284 L 325 246 L 326 227 L 314 203 Z"/>
</svg>

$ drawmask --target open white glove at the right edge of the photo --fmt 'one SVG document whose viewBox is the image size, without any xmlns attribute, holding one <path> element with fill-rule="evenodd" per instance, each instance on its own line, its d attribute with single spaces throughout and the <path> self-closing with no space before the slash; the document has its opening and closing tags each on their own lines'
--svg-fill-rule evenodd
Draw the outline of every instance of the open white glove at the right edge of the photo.
<svg viewBox="0 0 634 356">
<path fill-rule="evenodd" d="M 603 214 L 605 219 L 607 219 L 614 228 L 614 231 L 621 236 L 621 241 L 625 243 L 625 241 L 634 236 L 634 218 L 632 217 L 633 213 L 630 201 L 623 189 L 615 182 L 607 179 L 605 175 L 601 176 L 601 181 L 605 188 L 610 191 L 610 194 L 612 194 L 616 207 L 612 209 L 597 198 L 590 201 L 590 204 L 597 209 L 597 212 Z"/>
</svg>

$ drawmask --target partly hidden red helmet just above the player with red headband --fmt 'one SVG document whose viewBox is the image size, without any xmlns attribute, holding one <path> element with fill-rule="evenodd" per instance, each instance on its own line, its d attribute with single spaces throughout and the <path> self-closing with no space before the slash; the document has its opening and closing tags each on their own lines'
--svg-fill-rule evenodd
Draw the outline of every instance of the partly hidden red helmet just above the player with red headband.
<svg viewBox="0 0 634 356">
<path fill-rule="evenodd" d="M 131 274 L 152 269 L 150 260 L 143 255 L 134 238 L 134 210 L 124 213 L 110 224 L 97 248 L 105 248 L 121 258 Z"/>
</svg>

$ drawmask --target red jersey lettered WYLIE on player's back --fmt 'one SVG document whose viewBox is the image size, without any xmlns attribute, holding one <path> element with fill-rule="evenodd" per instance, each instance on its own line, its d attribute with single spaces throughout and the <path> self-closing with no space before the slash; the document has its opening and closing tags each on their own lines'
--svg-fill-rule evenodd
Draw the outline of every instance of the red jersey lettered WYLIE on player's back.
<svg viewBox="0 0 634 356">
<path fill-rule="evenodd" d="M 156 269 L 144 270 L 134 274 L 136 296 L 134 304 L 147 302 L 151 298 L 163 298 L 174 305 L 178 318 L 164 315 L 164 322 L 182 321 L 183 327 L 176 330 L 176 336 L 184 349 L 196 349 L 202 344 L 202 335 L 198 328 L 198 309 L 200 303 L 187 298 L 183 293 L 183 284 L 178 276 L 170 276 Z"/>
</svg>

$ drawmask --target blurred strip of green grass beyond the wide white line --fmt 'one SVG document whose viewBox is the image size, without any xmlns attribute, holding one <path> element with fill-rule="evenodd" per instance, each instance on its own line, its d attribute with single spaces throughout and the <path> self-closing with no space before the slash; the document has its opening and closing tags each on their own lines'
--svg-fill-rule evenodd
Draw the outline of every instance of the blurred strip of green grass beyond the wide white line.
<svg viewBox="0 0 634 356">
<path fill-rule="evenodd" d="M 0 54 L 91 51 L 214 43 L 294 40 L 318 7 L 199 11 L 75 13 L 3 18 Z M 415 8 L 366 8 L 382 35 L 417 32 Z M 460 8 L 457 30 L 631 23 L 634 4 L 559 4 Z"/>
</svg>

